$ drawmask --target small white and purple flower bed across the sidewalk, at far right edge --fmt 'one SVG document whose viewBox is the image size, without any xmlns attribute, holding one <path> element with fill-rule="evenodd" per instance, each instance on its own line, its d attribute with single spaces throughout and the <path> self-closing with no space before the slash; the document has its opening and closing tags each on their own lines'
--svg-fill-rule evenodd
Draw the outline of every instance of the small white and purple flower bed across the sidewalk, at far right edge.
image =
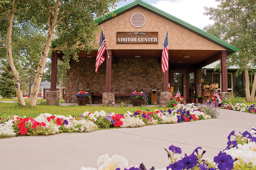
<svg viewBox="0 0 256 170">
<path fill-rule="evenodd" d="M 249 113 L 256 114 L 256 104 L 252 104 L 248 106 L 244 103 L 236 103 L 236 104 L 226 103 L 226 104 L 222 104 L 221 107 L 222 109 L 235 110 L 240 112 L 249 112 Z"/>
</svg>

